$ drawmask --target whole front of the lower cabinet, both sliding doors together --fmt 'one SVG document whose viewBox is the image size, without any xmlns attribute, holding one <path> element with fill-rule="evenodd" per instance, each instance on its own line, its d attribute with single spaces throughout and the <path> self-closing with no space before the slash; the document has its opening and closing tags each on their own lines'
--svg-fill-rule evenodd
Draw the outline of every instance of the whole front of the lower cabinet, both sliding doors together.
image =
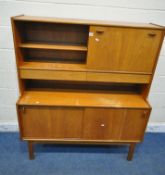
<svg viewBox="0 0 165 175">
<path fill-rule="evenodd" d="M 23 139 L 141 141 L 149 109 L 19 107 Z"/>
</svg>

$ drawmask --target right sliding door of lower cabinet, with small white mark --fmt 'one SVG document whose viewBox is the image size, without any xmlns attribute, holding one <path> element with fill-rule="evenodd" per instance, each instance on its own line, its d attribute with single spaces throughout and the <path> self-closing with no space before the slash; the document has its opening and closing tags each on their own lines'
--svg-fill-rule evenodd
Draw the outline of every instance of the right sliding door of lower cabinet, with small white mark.
<svg viewBox="0 0 165 175">
<path fill-rule="evenodd" d="M 85 109 L 83 138 L 89 140 L 141 141 L 149 110 Z"/>
</svg>

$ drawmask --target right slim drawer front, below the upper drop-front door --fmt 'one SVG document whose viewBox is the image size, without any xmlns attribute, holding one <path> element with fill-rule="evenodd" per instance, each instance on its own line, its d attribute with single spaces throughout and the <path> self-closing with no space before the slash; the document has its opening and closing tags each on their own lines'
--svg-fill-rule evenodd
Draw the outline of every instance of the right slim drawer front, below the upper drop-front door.
<svg viewBox="0 0 165 175">
<path fill-rule="evenodd" d="M 151 75 L 87 72 L 87 81 L 117 83 L 149 83 Z"/>
</svg>

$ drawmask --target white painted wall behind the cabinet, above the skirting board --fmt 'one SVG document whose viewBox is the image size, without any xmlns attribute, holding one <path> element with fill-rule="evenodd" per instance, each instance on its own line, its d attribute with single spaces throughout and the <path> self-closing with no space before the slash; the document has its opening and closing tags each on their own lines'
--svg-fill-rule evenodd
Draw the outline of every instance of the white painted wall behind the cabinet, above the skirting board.
<svg viewBox="0 0 165 175">
<path fill-rule="evenodd" d="M 0 0 L 0 123 L 17 120 L 18 84 L 10 17 L 20 14 L 165 25 L 165 0 Z M 149 101 L 153 107 L 150 122 L 165 122 L 165 44 Z"/>
</svg>

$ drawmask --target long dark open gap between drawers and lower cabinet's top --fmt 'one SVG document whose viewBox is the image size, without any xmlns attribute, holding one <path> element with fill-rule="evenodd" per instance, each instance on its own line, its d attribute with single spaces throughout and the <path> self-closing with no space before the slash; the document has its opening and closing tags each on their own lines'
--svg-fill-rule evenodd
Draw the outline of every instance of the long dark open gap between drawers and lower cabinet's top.
<svg viewBox="0 0 165 175">
<path fill-rule="evenodd" d="M 98 93 L 120 93 L 141 94 L 145 85 L 132 83 L 91 83 L 77 81 L 57 80 L 32 80 L 26 79 L 25 90 L 42 91 L 74 91 L 74 92 L 98 92 Z"/>
</svg>

